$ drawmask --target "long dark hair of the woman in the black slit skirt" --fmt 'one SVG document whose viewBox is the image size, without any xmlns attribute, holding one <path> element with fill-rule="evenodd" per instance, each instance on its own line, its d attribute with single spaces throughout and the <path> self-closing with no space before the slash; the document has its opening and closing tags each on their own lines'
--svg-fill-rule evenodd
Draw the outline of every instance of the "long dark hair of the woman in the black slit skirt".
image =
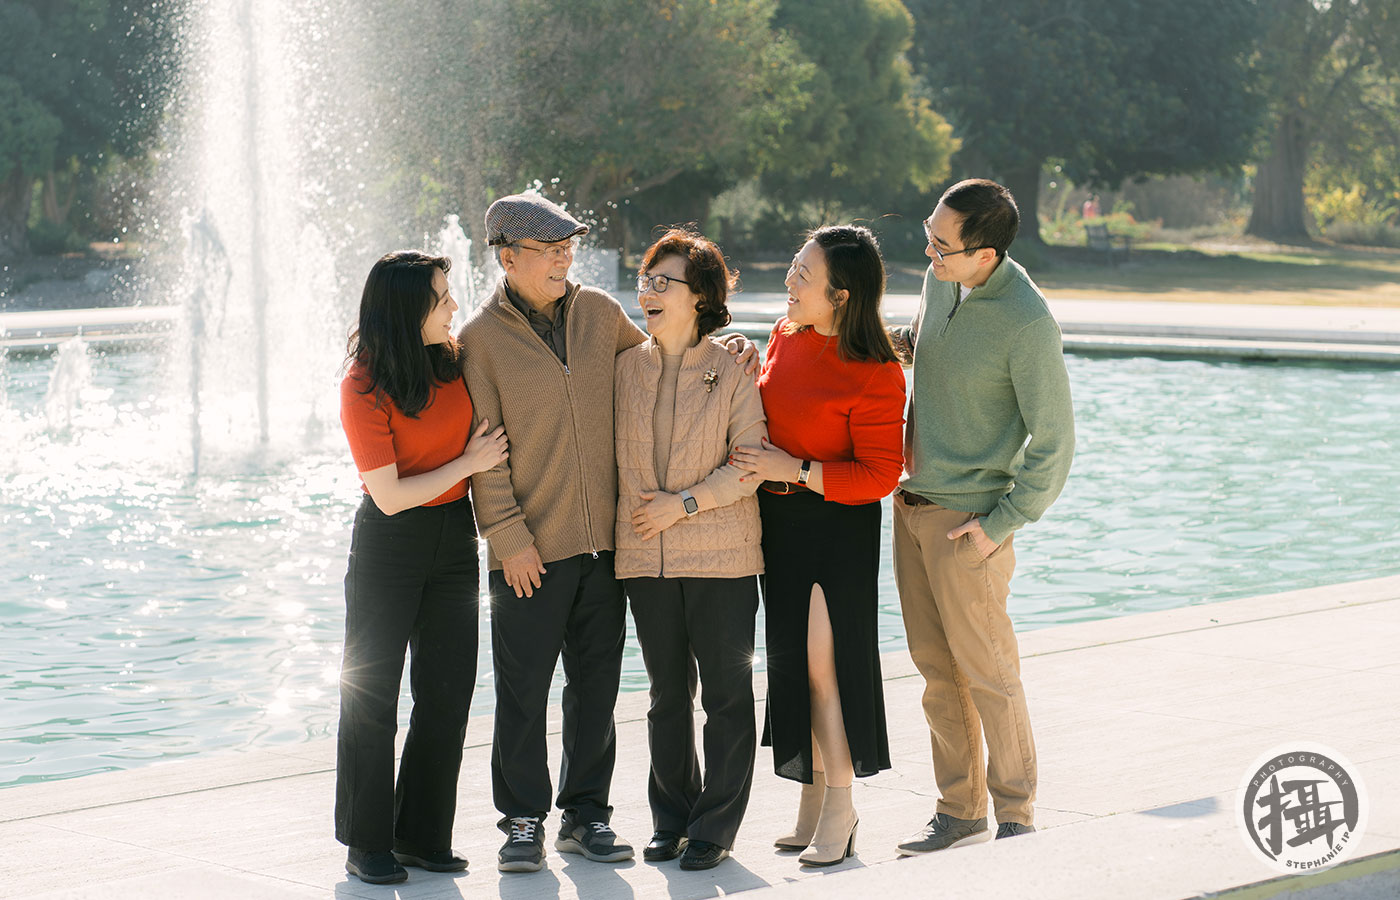
<svg viewBox="0 0 1400 900">
<path fill-rule="evenodd" d="M 896 361 L 881 319 L 885 260 L 875 232 L 864 225 L 823 225 L 809 231 L 806 239 L 826 256 L 826 298 L 836 307 L 837 351 L 847 360 Z M 846 291 L 846 302 L 836 302 L 837 291 Z"/>
</svg>

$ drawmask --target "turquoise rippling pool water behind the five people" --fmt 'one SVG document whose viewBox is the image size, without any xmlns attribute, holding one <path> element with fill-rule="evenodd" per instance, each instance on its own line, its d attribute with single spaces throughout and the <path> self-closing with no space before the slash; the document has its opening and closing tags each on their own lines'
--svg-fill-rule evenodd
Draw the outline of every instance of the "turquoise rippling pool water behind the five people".
<svg viewBox="0 0 1400 900">
<path fill-rule="evenodd" d="M 358 500 L 335 420 L 258 451 L 210 440 L 190 479 L 157 354 L 92 360 L 69 396 L 48 396 L 55 365 L 0 372 L 0 787 L 333 733 Z M 1016 537 L 1021 628 L 1400 572 L 1400 372 L 1068 365 L 1079 449 Z M 483 616 L 476 711 L 487 635 Z M 624 666 L 644 689 L 634 641 Z"/>
</svg>

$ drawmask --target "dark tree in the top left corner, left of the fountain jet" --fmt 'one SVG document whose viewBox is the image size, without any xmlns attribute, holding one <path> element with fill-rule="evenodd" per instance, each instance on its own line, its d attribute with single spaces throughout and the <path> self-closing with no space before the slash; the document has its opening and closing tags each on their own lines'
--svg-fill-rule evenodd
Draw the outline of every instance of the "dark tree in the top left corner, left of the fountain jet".
<svg viewBox="0 0 1400 900">
<path fill-rule="evenodd" d="M 178 17 L 161 3 L 0 1 L 0 256 L 28 252 L 35 179 L 43 207 L 66 217 L 70 178 L 106 153 L 132 153 L 158 122 L 174 74 Z"/>
</svg>

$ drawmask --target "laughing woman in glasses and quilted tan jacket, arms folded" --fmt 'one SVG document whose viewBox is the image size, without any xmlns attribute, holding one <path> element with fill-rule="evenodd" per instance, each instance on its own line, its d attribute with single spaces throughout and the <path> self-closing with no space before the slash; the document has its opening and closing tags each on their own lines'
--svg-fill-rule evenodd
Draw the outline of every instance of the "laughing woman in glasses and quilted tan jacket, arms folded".
<svg viewBox="0 0 1400 900">
<path fill-rule="evenodd" d="M 643 855 L 679 855 L 682 869 L 708 869 L 729 855 L 757 745 L 759 480 L 745 480 L 729 452 L 767 431 L 757 385 L 710 337 L 729 323 L 732 283 L 720 248 L 699 234 L 673 230 L 652 244 L 637 276 L 650 337 L 619 354 L 615 386 L 617 577 L 651 680 L 647 796 L 655 834 Z"/>
</svg>

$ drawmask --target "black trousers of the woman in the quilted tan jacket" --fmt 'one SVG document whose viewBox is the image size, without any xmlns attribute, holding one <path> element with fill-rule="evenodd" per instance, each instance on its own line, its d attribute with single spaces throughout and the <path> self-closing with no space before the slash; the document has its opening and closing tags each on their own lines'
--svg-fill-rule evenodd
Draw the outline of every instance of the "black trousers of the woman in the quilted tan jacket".
<svg viewBox="0 0 1400 900">
<path fill-rule="evenodd" d="M 748 578 L 629 578 L 637 642 L 651 679 L 647 798 L 658 831 L 732 848 L 753 787 L 753 620 Z M 694 698 L 704 708 L 704 775 Z"/>
</svg>

